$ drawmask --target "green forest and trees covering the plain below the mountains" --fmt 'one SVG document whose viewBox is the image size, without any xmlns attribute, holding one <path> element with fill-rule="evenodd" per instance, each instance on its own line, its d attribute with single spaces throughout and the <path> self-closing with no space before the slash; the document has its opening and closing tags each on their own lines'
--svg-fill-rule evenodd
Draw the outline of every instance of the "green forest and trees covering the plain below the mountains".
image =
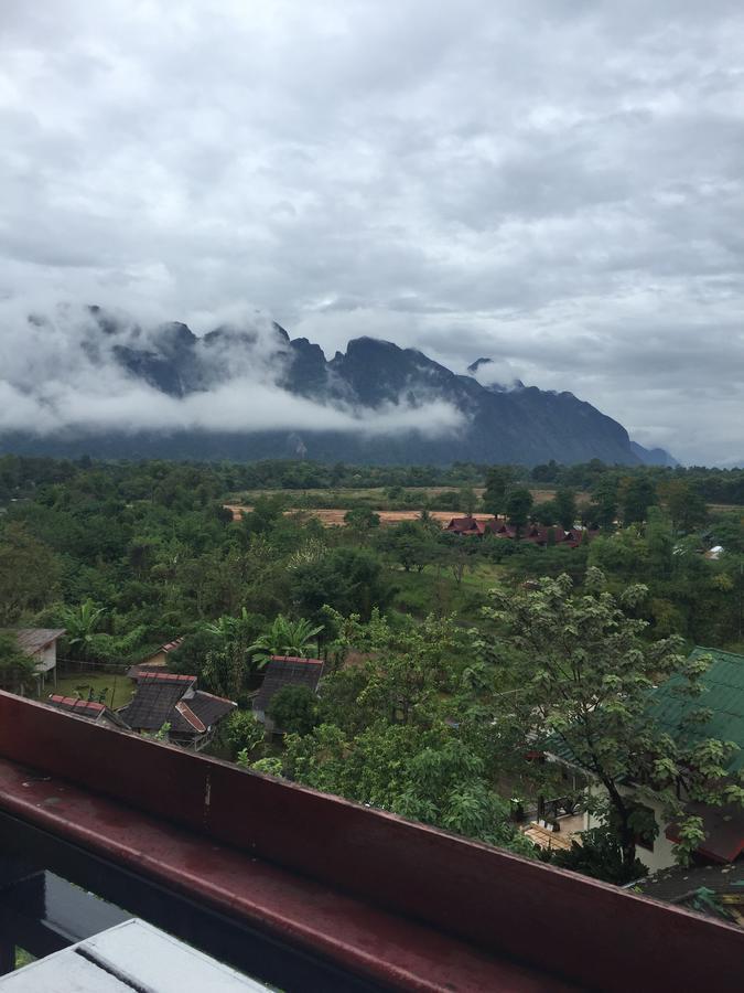
<svg viewBox="0 0 744 993">
<path fill-rule="evenodd" d="M 414 514 L 380 516 L 396 510 Z M 450 533 L 442 511 L 515 534 Z M 575 546 L 556 541 L 574 526 Z M 238 704 L 218 757 L 615 882 L 641 872 L 653 830 L 617 783 L 669 816 L 680 781 L 707 802 L 744 796 L 730 743 L 671 740 L 647 706 L 671 674 L 694 695 L 691 648 L 742 651 L 743 623 L 742 470 L 0 457 L 6 688 L 36 692 L 9 629 L 64 628 L 60 656 L 88 663 L 75 682 L 109 704 L 114 666 L 183 638 L 170 664 Z M 317 695 L 272 701 L 279 736 L 251 713 L 271 654 L 325 663 Z M 583 850 L 549 855 L 517 823 L 530 798 L 565 792 L 539 760 L 558 739 L 607 789 Z M 694 818 L 683 828 L 680 861 L 701 837 Z"/>
</svg>

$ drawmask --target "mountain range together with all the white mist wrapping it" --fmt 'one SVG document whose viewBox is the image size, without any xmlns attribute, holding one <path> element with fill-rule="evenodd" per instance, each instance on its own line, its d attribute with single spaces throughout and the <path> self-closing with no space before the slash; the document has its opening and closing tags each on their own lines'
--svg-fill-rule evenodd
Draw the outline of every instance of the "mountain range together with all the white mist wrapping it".
<svg viewBox="0 0 744 993">
<path fill-rule="evenodd" d="M 327 360 L 260 314 L 196 335 L 99 307 L 6 320 L 0 449 L 108 458 L 665 463 L 572 393 L 370 337 Z M 481 381 L 479 381 L 481 380 Z"/>
</svg>

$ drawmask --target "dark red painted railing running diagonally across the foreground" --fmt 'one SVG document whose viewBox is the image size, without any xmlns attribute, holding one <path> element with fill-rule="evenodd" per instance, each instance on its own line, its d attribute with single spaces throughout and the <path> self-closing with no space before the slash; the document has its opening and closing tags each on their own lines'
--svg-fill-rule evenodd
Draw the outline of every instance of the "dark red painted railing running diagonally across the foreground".
<svg viewBox="0 0 744 993">
<path fill-rule="evenodd" d="M 741 984 L 732 926 L 6 693 L 0 810 L 392 987 Z"/>
</svg>

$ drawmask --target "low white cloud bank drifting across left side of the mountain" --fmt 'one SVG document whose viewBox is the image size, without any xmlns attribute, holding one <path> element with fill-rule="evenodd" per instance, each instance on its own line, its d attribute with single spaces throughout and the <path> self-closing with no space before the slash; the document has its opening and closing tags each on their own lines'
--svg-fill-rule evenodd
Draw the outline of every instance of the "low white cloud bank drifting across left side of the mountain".
<svg viewBox="0 0 744 993">
<path fill-rule="evenodd" d="M 57 435 L 184 430 L 342 431 L 386 435 L 414 430 L 434 437 L 462 427 L 463 415 L 432 399 L 369 408 L 298 396 L 280 385 L 291 355 L 272 322 L 245 311 L 223 312 L 227 337 L 195 352 L 201 388 L 173 396 L 122 367 L 117 350 L 158 348 L 162 332 L 118 313 L 108 333 L 80 306 L 36 312 L 29 320 L 0 306 L 0 433 Z"/>
</svg>

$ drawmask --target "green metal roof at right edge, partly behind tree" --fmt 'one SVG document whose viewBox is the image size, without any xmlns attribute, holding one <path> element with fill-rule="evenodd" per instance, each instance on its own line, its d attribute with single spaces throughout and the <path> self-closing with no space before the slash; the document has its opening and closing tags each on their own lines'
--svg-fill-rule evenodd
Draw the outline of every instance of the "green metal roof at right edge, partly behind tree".
<svg viewBox="0 0 744 993">
<path fill-rule="evenodd" d="M 711 719 L 686 729 L 688 741 L 696 738 L 719 738 L 735 741 L 735 751 L 727 766 L 730 773 L 744 768 L 744 655 L 723 652 L 720 649 L 696 648 L 690 659 L 711 655 L 708 671 L 701 676 L 703 691 L 699 696 L 682 696 L 677 691 L 687 681 L 673 675 L 651 692 L 651 714 L 659 725 L 675 738 L 680 736 L 682 718 L 690 712 L 705 707 L 712 711 Z"/>
</svg>

